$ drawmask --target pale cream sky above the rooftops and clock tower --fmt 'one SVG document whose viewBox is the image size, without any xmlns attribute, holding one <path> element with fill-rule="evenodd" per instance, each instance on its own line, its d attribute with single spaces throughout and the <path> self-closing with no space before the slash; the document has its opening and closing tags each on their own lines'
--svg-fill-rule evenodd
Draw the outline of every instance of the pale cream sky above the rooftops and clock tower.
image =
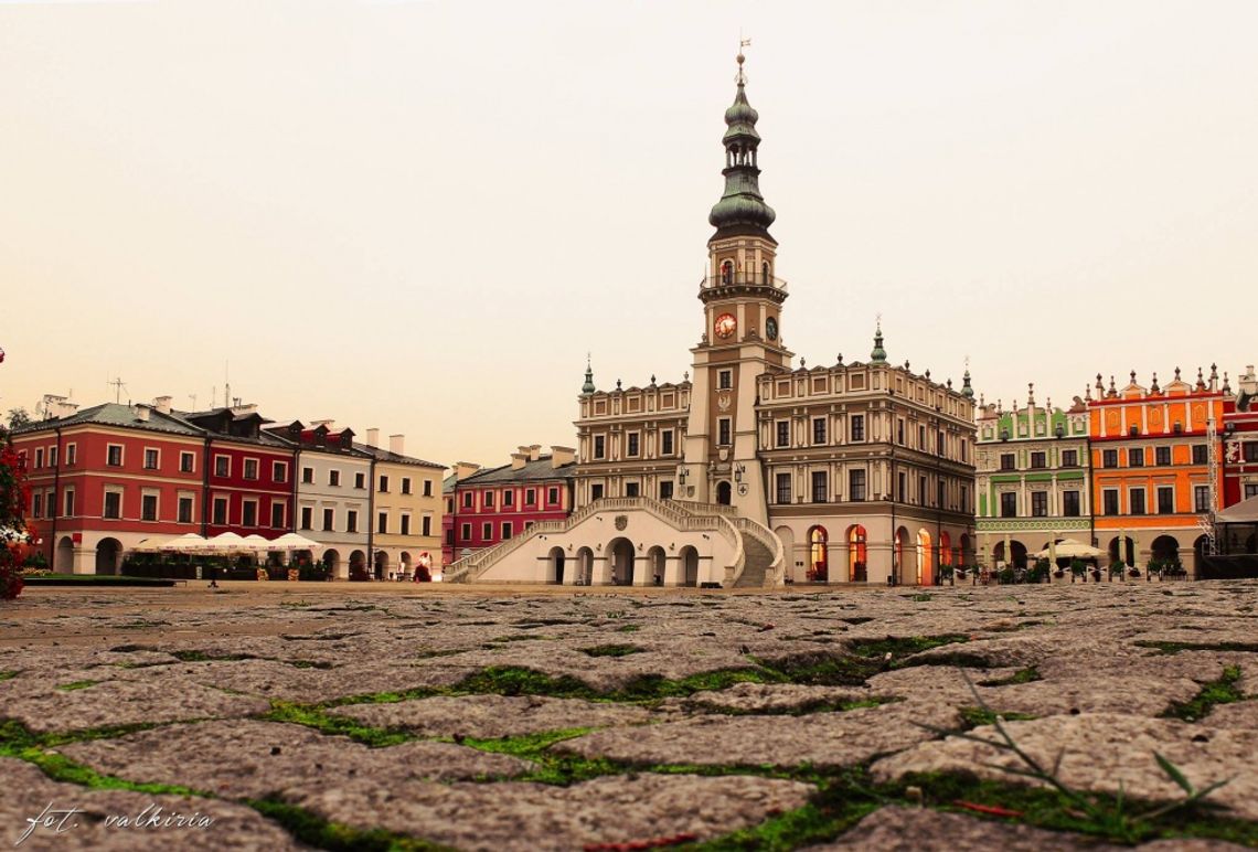
<svg viewBox="0 0 1258 852">
<path fill-rule="evenodd" d="M 782 339 L 1005 404 L 1258 360 L 1258 3 L 0 0 L 0 410 L 406 452 L 681 380 L 740 30 Z M 1247 334 L 1248 327 L 1248 334 Z"/>
</svg>

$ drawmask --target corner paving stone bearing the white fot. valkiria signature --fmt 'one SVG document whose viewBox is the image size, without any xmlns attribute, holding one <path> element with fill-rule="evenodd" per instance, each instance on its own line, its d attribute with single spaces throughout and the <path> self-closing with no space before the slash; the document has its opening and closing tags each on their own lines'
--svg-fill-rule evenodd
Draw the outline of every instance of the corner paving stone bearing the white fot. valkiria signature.
<svg viewBox="0 0 1258 852">
<path fill-rule="evenodd" d="M 180 795 L 150 795 L 130 790 L 87 789 L 49 779 L 35 766 L 11 758 L 0 758 L 0 778 L 5 780 L 0 795 L 0 841 L 10 848 L 33 852 L 64 849 L 245 849 L 287 852 L 306 849 L 279 826 L 255 810 L 229 802 L 215 802 Z M 62 814 L 45 817 L 48 810 L 78 809 L 62 822 Z M 185 818 L 180 826 L 174 819 Z M 213 822 L 201 827 L 201 817 Z M 112 822 L 107 822 L 111 821 Z M 120 824 L 120 818 L 128 822 Z M 148 821 L 157 818 L 152 826 Z M 171 819 L 170 824 L 165 821 Z M 34 831 L 21 841 L 23 832 L 36 821 Z M 142 827 L 137 827 L 137 823 Z M 58 831 L 60 829 L 60 831 Z M 18 844 L 20 841 L 20 846 Z"/>
</svg>

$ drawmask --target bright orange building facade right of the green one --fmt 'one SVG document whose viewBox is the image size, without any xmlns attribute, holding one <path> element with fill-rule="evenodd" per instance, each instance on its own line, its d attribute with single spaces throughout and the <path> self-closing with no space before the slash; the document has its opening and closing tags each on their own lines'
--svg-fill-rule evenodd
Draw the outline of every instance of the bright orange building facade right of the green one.
<svg viewBox="0 0 1258 852">
<path fill-rule="evenodd" d="M 1209 429 L 1211 420 L 1222 429 L 1229 396 L 1218 373 L 1211 367 L 1206 379 L 1198 370 L 1189 383 L 1176 367 L 1165 388 L 1156 374 L 1145 388 L 1132 373 L 1122 389 L 1111 378 L 1108 391 L 1098 375 L 1096 389 L 1088 422 L 1097 546 L 1141 569 L 1150 560 L 1179 561 L 1196 574 L 1203 521 L 1222 508 L 1222 487 L 1210 483 L 1211 456 L 1219 464 L 1222 446 Z"/>
</svg>

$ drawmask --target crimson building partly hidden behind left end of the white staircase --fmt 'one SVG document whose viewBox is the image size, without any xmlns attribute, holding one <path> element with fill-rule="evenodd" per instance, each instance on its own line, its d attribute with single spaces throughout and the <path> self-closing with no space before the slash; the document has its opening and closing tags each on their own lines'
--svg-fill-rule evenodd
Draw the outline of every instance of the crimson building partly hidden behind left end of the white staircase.
<svg viewBox="0 0 1258 852">
<path fill-rule="evenodd" d="M 467 471 L 455 466 L 445 488 L 443 564 L 512 539 L 540 521 L 564 520 L 572 513 L 576 453 L 567 447 L 520 447 L 511 464 Z M 460 476 L 464 472 L 464 476 Z"/>
</svg>

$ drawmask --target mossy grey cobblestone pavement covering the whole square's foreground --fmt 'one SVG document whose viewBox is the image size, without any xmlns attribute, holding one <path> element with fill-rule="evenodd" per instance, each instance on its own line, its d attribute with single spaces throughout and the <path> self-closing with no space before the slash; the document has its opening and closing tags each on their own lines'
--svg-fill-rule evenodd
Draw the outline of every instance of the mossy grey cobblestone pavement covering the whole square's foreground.
<svg viewBox="0 0 1258 852">
<path fill-rule="evenodd" d="M 0 826 L 28 849 L 1255 846 L 1255 599 L 29 589 L 0 605 Z"/>
</svg>

